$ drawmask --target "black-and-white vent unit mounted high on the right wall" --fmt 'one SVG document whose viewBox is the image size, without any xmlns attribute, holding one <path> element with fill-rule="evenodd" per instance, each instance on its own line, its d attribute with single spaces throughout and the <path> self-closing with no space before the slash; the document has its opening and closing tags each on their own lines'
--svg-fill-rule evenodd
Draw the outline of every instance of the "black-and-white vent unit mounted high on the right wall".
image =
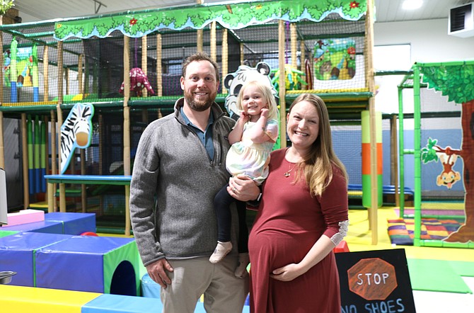
<svg viewBox="0 0 474 313">
<path fill-rule="evenodd" d="M 467 38 L 474 36 L 474 3 L 449 10 L 448 34 Z"/>
</svg>

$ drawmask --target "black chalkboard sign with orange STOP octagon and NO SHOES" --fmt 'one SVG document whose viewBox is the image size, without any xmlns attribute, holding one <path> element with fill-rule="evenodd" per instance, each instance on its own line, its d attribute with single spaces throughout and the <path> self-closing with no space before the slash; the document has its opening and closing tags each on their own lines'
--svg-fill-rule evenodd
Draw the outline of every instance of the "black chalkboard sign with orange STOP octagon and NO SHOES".
<svg viewBox="0 0 474 313">
<path fill-rule="evenodd" d="M 416 312 L 404 249 L 335 256 L 342 313 Z"/>
</svg>

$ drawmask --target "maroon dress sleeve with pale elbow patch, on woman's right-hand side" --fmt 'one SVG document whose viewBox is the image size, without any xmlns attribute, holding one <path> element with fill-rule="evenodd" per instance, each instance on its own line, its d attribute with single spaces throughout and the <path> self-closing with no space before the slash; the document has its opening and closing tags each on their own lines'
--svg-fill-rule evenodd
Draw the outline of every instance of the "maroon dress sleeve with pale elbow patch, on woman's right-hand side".
<svg viewBox="0 0 474 313">
<path fill-rule="evenodd" d="M 349 226 L 347 183 L 339 169 L 333 166 L 333 180 L 318 196 L 326 224 L 324 234 L 337 244 L 344 239 Z"/>
</svg>

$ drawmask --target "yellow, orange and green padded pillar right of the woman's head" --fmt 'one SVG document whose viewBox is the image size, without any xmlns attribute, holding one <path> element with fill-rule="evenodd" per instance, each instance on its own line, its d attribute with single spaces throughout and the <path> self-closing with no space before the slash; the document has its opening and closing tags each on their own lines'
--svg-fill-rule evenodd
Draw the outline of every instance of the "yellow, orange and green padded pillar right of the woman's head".
<svg viewBox="0 0 474 313">
<path fill-rule="evenodd" d="M 382 113 L 376 112 L 378 207 L 383 201 Z M 369 110 L 362 111 L 362 205 L 371 207 L 371 154 Z"/>
</svg>

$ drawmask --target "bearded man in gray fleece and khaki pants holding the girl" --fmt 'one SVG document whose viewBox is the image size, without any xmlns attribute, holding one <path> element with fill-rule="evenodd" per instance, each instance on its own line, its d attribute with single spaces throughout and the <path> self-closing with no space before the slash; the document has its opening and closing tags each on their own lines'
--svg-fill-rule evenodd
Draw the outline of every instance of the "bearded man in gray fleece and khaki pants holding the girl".
<svg viewBox="0 0 474 313">
<path fill-rule="evenodd" d="M 229 181 L 226 136 L 234 121 L 214 102 L 217 64 L 198 52 L 183 62 L 184 98 L 173 114 L 155 120 L 141 135 L 130 185 L 130 211 L 141 260 L 161 285 L 163 312 L 194 312 L 204 294 L 207 312 L 242 312 L 248 278 L 236 278 L 237 252 L 209 262 L 217 240 L 213 199 Z M 229 193 L 255 200 L 250 178 L 229 182 Z M 237 214 L 233 208 L 233 242 Z M 237 246 L 234 244 L 234 246 Z"/>
</svg>

